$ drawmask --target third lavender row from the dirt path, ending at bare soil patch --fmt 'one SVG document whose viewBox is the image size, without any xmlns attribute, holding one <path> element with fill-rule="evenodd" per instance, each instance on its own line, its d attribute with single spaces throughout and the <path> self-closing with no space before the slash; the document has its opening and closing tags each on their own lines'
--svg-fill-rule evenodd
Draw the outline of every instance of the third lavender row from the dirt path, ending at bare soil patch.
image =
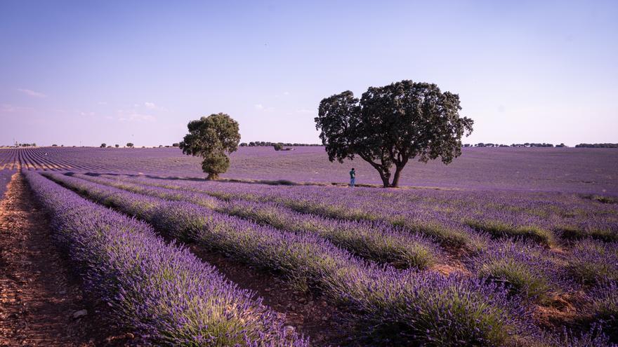
<svg viewBox="0 0 618 347">
<path fill-rule="evenodd" d="M 217 212 L 270 224 L 277 229 L 316 233 L 366 259 L 388 262 L 400 267 L 427 268 L 440 256 L 438 246 L 419 234 L 410 234 L 383 223 L 328 219 L 295 212 L 276 203 L 256 203 L 246 200 L 220 200 L 206 193 L 179 192 L 156 186 L 145 186 L 89 175 L 74 175 L 91 182 L 156 196 L 180 200 L 212 208 Z"/>
</svg>

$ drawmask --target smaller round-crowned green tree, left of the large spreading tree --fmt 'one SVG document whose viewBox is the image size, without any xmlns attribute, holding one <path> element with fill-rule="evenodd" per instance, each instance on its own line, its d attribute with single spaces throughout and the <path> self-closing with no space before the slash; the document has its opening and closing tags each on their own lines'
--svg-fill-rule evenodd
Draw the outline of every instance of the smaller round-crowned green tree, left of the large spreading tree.
<svg viewBox="0 0 618 347">
<path fill-rule="evenodd" d="M 230 167 L 227 154 L 238 149 L 238 122 L 220 113 L 190 121 L 187 127 L 189 133 L 180 142 L 180 149 L 183 154 L 204 158 L 202 170 L 208 174 L 206 179 L 217 179 Z"/>
</svg>

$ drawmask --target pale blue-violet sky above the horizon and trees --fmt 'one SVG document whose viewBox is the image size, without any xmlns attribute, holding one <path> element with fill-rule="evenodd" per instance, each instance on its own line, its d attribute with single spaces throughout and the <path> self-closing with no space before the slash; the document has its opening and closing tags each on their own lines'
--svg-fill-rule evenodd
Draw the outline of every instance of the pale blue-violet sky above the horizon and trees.
<svg viewBox="0 0 618 347">
<path fill-rule="evenodd" d="M 459 93 L 465 142 L 618 142 L 618 1 L 0 1 L 0 144 L 137 146 L 225 112 L 317 143 L 323 97 Z"/>
</svg>

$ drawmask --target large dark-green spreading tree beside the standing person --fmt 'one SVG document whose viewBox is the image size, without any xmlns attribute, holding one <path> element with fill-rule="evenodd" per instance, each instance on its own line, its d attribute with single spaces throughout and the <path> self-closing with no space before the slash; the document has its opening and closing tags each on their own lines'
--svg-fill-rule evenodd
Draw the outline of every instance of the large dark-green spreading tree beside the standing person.
<svg viewBox="0 0 618 347">
<path fill-rule="evenodd" d="M 350 90 L 324 98 L 315 127 L 330 161 L 360 156 L 385 187 L 398 186 L 409 159 L 449 164 L 461 155 L 461 137 L 471 134 L 473 121 L 460 110 L 459 95 L 433 83 L 400 81 L 369 87 L 360 100 Z"/>
</svg>

